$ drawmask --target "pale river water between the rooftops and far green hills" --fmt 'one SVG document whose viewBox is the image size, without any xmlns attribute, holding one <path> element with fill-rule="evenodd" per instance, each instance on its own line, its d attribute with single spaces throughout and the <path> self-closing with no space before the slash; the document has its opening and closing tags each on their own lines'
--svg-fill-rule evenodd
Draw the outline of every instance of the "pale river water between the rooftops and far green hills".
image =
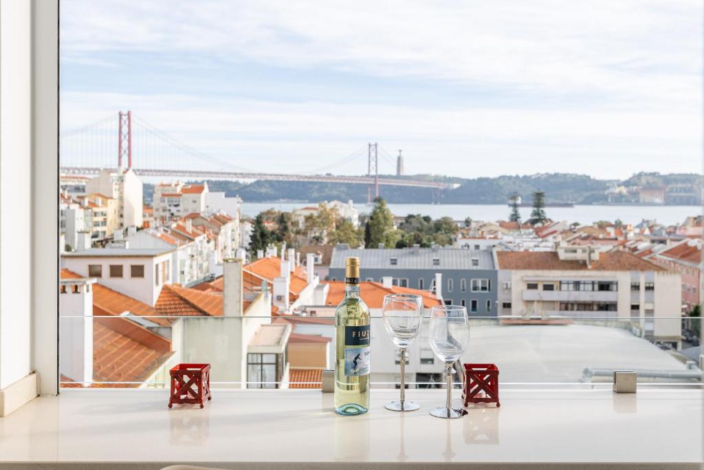
<svg viewBox="0 0 704 470">
<path fill-rule="evenodd" d="M 261 211 L 277 209 L 292 211 L 306 206 L 315 206 L 313 202 L 244 202 L 242 214 L 254 217 Z M 369 213 L 371 205 L 356 204 L 360 213 Z M 389 204 L 389 209 L 396 216 L 421 214 L 440 218 L 448 216 L 455 221 L 463 221 L 471 217 L 475 221 L 508 220 L 510 208 L 504 204 Z M 687 216 L 697 216 L 702 213 L 699 206 L 574 206 L 546 207 L 546 214 L 554 221 L 578 222 L 591 225 L 596 221 L 615 221 L 620 218 L 624 223 L 639 223 L 644 218 L 665 225 L 681 223 Z M 530 216 L 529 207 L 520 208 L 523 220 Z"/>
</svg>

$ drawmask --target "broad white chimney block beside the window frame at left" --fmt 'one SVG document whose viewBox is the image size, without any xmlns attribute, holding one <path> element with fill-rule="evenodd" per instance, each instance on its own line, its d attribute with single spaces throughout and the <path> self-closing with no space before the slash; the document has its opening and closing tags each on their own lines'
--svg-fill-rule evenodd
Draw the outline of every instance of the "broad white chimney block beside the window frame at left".
<svg viewBox="0 0 704 470">
<path fill-rule="evenodd" d="M 59 372 L 84 387 L 93 381 L 93 283 L 95 279 L 71 280 L 62 283 L 59 294 L 59 316 L 69 317 L 59 322 Z"/>
</svg>

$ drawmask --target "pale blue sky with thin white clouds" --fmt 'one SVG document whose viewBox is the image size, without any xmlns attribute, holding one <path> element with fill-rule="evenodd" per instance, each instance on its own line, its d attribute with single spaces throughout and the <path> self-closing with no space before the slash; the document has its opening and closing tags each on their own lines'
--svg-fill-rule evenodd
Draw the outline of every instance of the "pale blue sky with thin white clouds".
<svg viewBox="0 0 704 470">
<path fill-rule="evenodd" d="M 281 173 L 366 173 L 367 142 L 380 173 L 702 173 L 702 4 L 62 0 L 61 129 L 130 109 Z"/>
</svg>

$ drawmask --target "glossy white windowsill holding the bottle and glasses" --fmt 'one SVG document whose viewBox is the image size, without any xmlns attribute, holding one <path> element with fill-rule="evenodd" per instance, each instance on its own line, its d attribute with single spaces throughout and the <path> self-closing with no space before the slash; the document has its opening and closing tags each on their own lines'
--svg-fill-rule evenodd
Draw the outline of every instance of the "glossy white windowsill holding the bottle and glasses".
<svg viewBox="0 0 704 470">
<path fill-rule="evenodd" d="M 202 410 L 169 410 L 165 390 L 65 390 L 0 419 L 0 466 L 650 462 L 662 466 L 648 468 L 677 469 L 698 468 L 702 457 L 701 390 L 504 390 L 501 408 L 470 409 L 455 420 L 428 415 L 444 403 L 444 390 L 406 393 L 420 410 L 386 411 L 384 402 L 398 390 L 374 390 L 371 411 L 346 418 L 332 412 L 332 394 L 319 390 L 215 389 Z M 453 396 L 458 404 L 460 390 Z M 491 466 L 497 468 L 502 466 Z"/>
</svg>

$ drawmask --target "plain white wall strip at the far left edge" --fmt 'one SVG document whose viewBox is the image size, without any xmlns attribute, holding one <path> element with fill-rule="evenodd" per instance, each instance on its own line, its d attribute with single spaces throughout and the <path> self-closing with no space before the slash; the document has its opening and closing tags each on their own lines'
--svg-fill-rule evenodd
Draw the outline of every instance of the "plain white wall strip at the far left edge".
<svg viewBox="0 0 704 470">
<path fill-rule="evenodd" d="M 32 371 L 31 7 L 0 1 L 0 390 Z"/>
</svg>

